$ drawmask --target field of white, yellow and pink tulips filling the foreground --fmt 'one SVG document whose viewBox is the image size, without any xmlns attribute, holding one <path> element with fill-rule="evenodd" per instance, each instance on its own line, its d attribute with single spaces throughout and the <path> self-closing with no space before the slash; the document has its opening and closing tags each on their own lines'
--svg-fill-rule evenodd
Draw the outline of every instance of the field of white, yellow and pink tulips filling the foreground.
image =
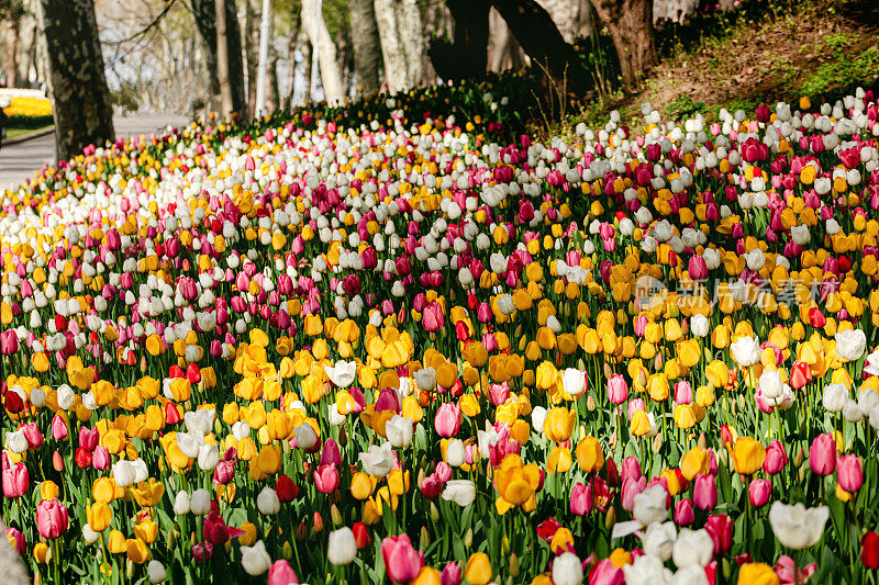
<svg viewBox="0 0 879 585">
<path fill-rule="evenodd" d="M 876 583 L 877 95 L 538 138 L 521 91 L 211 117 L 2 193 L 29 573 Z"/>
</svg>

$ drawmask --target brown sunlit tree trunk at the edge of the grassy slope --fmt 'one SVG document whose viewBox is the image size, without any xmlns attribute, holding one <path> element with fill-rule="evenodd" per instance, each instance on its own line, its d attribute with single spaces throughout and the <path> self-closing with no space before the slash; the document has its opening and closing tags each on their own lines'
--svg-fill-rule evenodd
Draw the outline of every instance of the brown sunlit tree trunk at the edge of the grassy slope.
<svg viewBox="0 0 879 585">
<path fill-rule="evenodd" d="M 593 0 L 592 5 L 608 26 L 620 57 L 623 89 L 634 91 L 637 76 L 659 63 L 653 34 L 653 0 Z"/>
</svg>

